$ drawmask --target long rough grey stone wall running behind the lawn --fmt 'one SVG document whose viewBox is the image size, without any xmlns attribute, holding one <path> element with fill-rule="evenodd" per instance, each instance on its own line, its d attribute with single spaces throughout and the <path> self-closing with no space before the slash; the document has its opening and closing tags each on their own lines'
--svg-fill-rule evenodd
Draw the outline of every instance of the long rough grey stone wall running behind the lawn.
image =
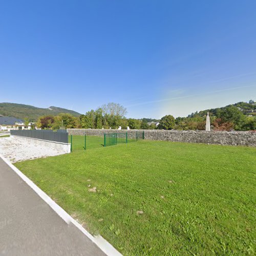
<svg viewBox="0 0 256 256">
<path fill-rule="evenodd" d="M 206 131 L 164 131 L 164 130 L 107 130 L 107 129 L 67 129 L 72 135 L 103 136 L 104 133 L 127 132 L 135 135 L 137 131 L 144 131 L 146 140 L 167 140 L 189 143 L 207 143 L 220 145 L 256 146 L 255 132 L 206 132 Z"/>
</svg>

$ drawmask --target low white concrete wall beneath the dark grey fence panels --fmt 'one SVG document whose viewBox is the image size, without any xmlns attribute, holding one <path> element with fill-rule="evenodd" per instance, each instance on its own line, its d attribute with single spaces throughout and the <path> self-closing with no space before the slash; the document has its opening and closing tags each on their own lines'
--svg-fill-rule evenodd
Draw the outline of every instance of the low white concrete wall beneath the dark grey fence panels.
<svg viewBox="0 0 256 256">
<path fill-rule="evenodd" d="M 50 141 L 50 140 L 40 140 L 40 139 L 34 139 L 34 138 L 28 138 L 28 137 L 16 136 L 16 135 L 11 135 L 10 137 L 18 137 L 18 138 L 22 138 L 28 142 L 31 142 L 31 143 L 54 148 L 56 150 L 63 152 L 63 154 L 71 152 L 71 144 L 70 143 L 62 143 L 62 142 Z"/>
</svg>

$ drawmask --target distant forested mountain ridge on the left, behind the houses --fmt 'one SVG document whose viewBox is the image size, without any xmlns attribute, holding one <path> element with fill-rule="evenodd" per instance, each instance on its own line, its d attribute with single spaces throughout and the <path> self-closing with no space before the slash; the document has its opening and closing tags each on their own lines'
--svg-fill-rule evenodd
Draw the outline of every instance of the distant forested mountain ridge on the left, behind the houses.
<svg viewBox="0 0 256 256">
<path fill-rule="evenodd" d="M 16 103 L 0 103 L 0 115 L 8 117 L 16 117 L 19 119 L 28 118 L 29 121 L 37 121 L 37 118 L 45 115 L 56 116 L 60 113 L 68 113 L 73 116 L 80 116 L 81 114 L 73 110 L 58 108 L 57 106 L 50 106 L 48 109 L 36 108 L 36 106 L 16 104 Z"/>
</svg>

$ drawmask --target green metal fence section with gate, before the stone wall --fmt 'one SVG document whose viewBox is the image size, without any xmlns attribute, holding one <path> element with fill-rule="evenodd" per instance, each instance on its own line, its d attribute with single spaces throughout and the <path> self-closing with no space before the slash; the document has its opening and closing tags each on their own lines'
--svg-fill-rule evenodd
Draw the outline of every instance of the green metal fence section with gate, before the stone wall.
<svg viewBox="0 0 256 256">
<path fill-rule="evenodd" d="M 144 139 L 144 131 L 137 131 L 133 136 L 126 133 L 108 133 L 104 134 L 104 146 L 117 145 L 119 143 L 128 143 Z"/>
</svg>

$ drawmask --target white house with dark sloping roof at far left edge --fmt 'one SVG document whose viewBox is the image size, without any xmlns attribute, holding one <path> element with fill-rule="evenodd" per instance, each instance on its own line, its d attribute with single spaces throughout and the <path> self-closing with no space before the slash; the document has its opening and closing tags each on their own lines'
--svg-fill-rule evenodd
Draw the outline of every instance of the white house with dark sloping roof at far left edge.
<svg viewBox="0 0 256 256">
<path fill-rule="evenodd" d="M 22 119 L 0 115 L 0 131 L 36 129 L 34 123 L 25 124 Z"/>
</svg>

